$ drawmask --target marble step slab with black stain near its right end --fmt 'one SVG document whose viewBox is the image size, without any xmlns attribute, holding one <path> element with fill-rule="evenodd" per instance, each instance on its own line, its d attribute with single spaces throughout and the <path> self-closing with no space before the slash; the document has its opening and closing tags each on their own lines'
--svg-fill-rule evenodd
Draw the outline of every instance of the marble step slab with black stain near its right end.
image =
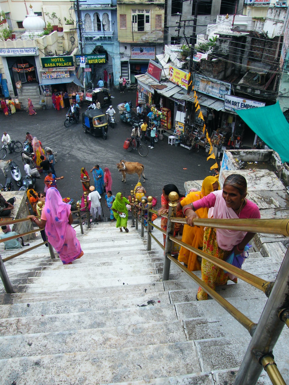
<svg viewBox="0 0 289 385">
<path fill-rule="evenodd" d="M 96 298 L 73 298 L 57 301 L 37 301 L 30 303 L 14 303 L 0 306 L 0 318 L 18 318 L 26 316 L 42 316 L 64 313 L 81 313 L 109 309 L 125 309 L 144 306 L 170 305 L 167 291 L 152 293 L 136 293 L 111 295 Z"/>
</svg>

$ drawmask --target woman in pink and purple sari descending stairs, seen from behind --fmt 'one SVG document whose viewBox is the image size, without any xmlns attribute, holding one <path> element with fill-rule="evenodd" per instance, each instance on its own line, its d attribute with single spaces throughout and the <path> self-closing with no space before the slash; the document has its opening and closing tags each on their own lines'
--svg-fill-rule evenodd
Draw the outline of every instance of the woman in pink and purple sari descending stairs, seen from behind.
<svg viewBox="0 0 289 385">
<path fill-rule="evenodd" d="M 60 193 L 54 187 L 48 189 L 45 198 L 45 206 L 41 213 L 41 219 L 29 215 L 40 229 L 45 227 L 45 233 L 49 243 L 59 254 L 63 264 L 72 264 L 75 259 L 81 258 L 83 251 L 73 223 L 70 204 L 62 202 Z"/>
</svg>

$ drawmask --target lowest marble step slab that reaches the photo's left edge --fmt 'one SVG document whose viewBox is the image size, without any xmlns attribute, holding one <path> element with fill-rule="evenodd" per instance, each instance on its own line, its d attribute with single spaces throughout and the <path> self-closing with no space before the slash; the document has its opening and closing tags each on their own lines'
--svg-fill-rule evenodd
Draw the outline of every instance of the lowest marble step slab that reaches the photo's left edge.
<svg viewBox="0 0 289 385">
<path fill-rule="evenodd" d="M 4 383 L 34 385 L 39 378 L 53 376 L 57 383 L 91 385 L 197 373 L 200 365 L 195 345 L 188 341 L 77 355 L 13 358 L 1 360 L 0 371 Z"/>
</svg>

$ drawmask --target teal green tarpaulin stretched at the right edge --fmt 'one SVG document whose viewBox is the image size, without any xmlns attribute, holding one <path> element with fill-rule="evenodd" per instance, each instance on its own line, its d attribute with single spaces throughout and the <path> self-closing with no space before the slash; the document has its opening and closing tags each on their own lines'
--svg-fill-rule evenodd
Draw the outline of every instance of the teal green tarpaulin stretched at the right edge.
<svg viewBox="0 0 289 385">
<path fill-rule="evenodd" d="M 279 102 L 267 107 L 239 110 L 237 114 L 270 148 L 276 151 L 282 162 L 289 162 L 289 124 Z"/>
</svg>

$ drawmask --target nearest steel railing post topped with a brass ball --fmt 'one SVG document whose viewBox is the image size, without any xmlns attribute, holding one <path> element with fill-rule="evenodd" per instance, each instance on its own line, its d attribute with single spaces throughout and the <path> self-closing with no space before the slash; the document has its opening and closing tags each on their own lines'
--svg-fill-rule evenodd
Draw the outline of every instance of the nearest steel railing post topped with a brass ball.
<svg viewBox="0 0 289 385">
<path fill-rule="evenodd" d="M 168 223 L 166 225 L 166 245 L 165 245 L 165 253 L 164 253 L 164 261 L 163 261 L 163 281 L 168 281 L 170 276 L 170 266 L 171 261 L 167 258 L 166 254 L 171 253 L 171 249 L 173 247 L 173 242 L 170 240 L 170 236 L 173 236 L 175 224 L 170 221 L 171 217 L 175 216 L 176 213 L 176 205 L 178 204 L 179 196 L 175 191 L 170 192 L 169 194 L 169 211 L 168 211 Z"/>
</svg>

